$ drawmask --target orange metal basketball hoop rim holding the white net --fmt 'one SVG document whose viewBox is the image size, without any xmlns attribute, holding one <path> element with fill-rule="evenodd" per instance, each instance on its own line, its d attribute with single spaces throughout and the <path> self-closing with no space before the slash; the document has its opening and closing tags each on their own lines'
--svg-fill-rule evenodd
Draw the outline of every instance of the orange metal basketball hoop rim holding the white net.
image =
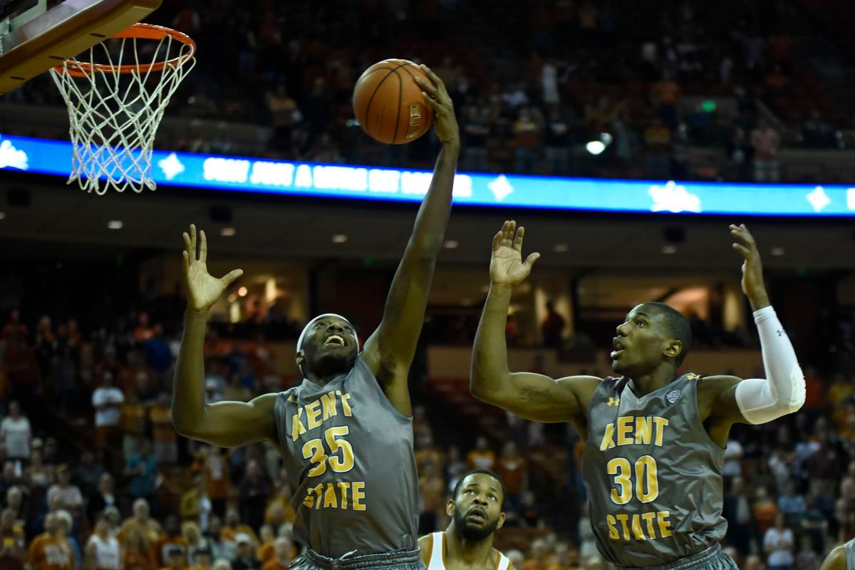
<svg viewBox="0 0 855 570">
<path fill-rule="evenodd" d="M 119 33 L 110 36 L 109 38 L 126 38 L 126 39 L 152 39 L 160 41 L 167 37 L 173 38 L 175 41 L 185 44 L 189 50 L 182 50 L 178 57 L 168 59 L 165 62 L 153 63 L 131 63 L 125 65 L 109 65 L 106 63 L 87 63 L 78 62 L 76 60 L 68 60 L 64 64 L 57 65 L 55 71 L 57 73 L 68 73 L 72 77 L 89 77 L 93 71 L 102 73 L 150 73 L 161 72 L 164 68 L 180 68 L 181 65 L 196 54 L 196 42 L 186 33 L 179 32 L 164 26 L 155 26 L 154 24 L 134 24 Z"/>
</svg>

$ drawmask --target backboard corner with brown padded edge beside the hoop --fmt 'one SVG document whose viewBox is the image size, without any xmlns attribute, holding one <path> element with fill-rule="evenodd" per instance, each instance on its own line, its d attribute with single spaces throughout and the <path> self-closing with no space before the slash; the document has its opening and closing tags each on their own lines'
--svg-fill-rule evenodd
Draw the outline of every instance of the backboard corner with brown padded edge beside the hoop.
<svg viewBox="0 0 855 570">
<path fill-rule="evenodd" d="M 0 0 L 0 95 L 142 21 L 161 3 Z"/>
</svg>

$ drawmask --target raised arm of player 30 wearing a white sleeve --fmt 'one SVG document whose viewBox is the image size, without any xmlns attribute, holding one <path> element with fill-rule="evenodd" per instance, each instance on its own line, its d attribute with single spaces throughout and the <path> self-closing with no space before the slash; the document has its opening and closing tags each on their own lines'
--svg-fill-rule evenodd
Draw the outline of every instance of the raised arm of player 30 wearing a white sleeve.
<svg viewBox="0 0 855 570">
<path fill-rule="evenodd" d="M 736 240 L 734 250 L 737 250 L 744 260 L 742 291 L 754 311 L 766 378 L 707 378 L 702 383 L 701 397 L 705 397 L 706 384 L 712 393 L 705 399 L 714 402 L 710 415 L 721 418 L 725 423 L 764 424 L 802 407 L 805 403 L 805 375 L 799 367 L 793 344 L 778 320 L 775 309 L 772 309 L 769 303 L 760 253 L 751 232 L 748 232 L 748 228 L 743 224 L 730 226 L 730 233 Z"/>
</svg>

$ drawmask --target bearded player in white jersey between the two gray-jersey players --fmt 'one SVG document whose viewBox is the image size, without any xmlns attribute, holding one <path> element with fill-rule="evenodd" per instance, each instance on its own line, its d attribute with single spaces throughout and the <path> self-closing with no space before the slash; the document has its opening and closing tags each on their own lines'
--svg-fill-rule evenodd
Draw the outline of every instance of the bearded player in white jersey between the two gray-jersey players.
<svg viewBox="0 0 855 570">
<path fill-rule="evenodd" d="M 492 548 L 496 529 L 504 525 L 505 491 L 496 473 L 475 469 L 463 475 L 445 506 L 451 524 L 445 532 L 419 538 L 428 570 L 514 570 Z"/>
</svg>

